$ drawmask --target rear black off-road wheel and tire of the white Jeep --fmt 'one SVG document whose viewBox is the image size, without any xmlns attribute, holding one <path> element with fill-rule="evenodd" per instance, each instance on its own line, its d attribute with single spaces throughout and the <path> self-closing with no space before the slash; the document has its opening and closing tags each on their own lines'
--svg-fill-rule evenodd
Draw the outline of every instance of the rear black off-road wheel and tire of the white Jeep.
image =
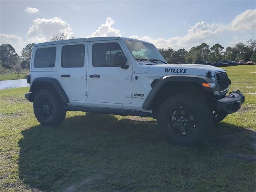
<svg viewBox="0 0 256 192">
<path fill-rule="evenodd" d="M 63 106 L 64 104 L 54 90 L 40 90 L 34 97 L 34 114 L 42 125 L 59 125 L 66 117 Z"/>
</svg>

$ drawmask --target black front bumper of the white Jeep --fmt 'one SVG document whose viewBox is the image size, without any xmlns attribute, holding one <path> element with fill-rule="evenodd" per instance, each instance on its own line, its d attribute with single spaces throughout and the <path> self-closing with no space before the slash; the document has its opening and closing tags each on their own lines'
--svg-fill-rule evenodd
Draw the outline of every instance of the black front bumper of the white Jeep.
<svg viewBox="0 0 256 192">
<path fill-rule="evenodd" d="M 238 111 L 244 102 L 244 96 L 239 91 L 233 91 L 228 96 L 217 101 L 218 112 L 224 112 L 226 114 L 231 114 Z"/>
</svg>

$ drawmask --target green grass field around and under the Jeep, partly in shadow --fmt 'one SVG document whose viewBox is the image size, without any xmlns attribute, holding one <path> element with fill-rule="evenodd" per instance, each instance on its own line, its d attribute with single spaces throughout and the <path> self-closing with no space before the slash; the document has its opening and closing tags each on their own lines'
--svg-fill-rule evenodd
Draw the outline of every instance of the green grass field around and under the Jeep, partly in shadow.
<svg viewBox="0 0 256 192">
<path fill-rule="evenodd" d="M 43 127 L 28 88 L 0 90 L 0 191 L 255 191 L 256 68 L 226 70 L 246 101 L 190 147 L 151 118 L 68 112 Z"/>
</svg>

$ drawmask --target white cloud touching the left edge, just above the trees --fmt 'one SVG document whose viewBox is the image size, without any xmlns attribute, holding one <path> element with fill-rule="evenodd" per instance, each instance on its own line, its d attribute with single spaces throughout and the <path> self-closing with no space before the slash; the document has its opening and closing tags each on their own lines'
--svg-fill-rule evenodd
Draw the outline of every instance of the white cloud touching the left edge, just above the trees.
<svg viewBox="0 0 256 192">
<path fill-rule="evenodd" d="M 14 47 L 15 51 L 20 54 L 25 43 L 20 36 L 0 34 L 0 45 L 10 44 Z"/>
</svg>

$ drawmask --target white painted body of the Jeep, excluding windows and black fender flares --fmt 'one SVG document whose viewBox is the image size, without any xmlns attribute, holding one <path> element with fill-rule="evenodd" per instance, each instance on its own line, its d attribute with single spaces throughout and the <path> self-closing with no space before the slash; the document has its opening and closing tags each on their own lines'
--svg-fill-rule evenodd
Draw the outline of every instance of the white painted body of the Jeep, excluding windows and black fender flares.
<svg viewBox="0 0 256 192">
<path fill-rule="evenodd" d="M 50 77 L 58 80 L 68 96 L 70 106 L 89 106 L 102 108 L 118 108 L 151 112 L 142 108 L 148 96 L 153 80 L 165 75 L 205 76 L 210 71 L 215 81 L 217 72 L 224 69 L 200 64 L 154 64 L 135 60 L 124 40 L 144 42 L 121 37 L 81 38 L 35 44 L 30 65 L 31 82 L 36 78 Z M 128 69 L 120 67 L 94 67 L 92 65 L 92 46 L 97 43 L 116 42 L 127 58 Z M 148 42 L 144 42 L 150 44 Z M 62 68 L 62 47 L 82 44 L 85 47 L 84 66 L 81 68 Z M 51 68 L 34 67 L 36 50 L 40 48 L 56 48 L 56 64 Z M 167 71 L 167 70 L 169 71 Z M 61 77 L 68 74 L 70 77 Z M 90 78 L 91 74 L 100 78 Z M 136 77 L 136 79 L 135 79 Z M 216 86 L 211 84 L 211 86 Z M 138 96 L 137 96 L 138 94 Z M 218 91 L 215 94 L 219 94 Z M 139 96 L 140 95 L 140 96 Z M 142 96 L 143 95 L 143 96 Z"/>
</svg>

